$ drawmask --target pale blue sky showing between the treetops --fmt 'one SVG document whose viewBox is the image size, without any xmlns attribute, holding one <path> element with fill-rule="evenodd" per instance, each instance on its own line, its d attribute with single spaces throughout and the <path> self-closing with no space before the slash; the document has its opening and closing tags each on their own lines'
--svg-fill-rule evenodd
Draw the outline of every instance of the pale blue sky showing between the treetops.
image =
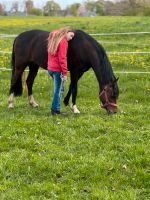
<svg viewBox="0 0 150 200">
<path fill-rule="evenodd" d="M 0 3 L 5 4 L 6 8 L 9 9 L 11 7 L 12 2 L 14 1 L 18 1 L 19 4 L 21 4 L 24 0 L 0 0 Z M 83 3 L 85 0 L 54 0 L 54 1 L 58 3 L 61 6 L 61 8 L 65 8 L 67 5 L 70 5 L 72 3 Z M 109 1 L 115 1 L 115 0 L 109 0 Z M 33 0 L 33 2 L 34 6 L 43 7 L 45 5 L 45 2 L 47 2 L 47 0 Z"/>
</svg>

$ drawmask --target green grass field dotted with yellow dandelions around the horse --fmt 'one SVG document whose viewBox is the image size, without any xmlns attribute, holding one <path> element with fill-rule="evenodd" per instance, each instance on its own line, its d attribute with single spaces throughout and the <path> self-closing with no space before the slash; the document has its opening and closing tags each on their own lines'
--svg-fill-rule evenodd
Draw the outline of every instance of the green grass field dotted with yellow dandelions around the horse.
<svg viewBox="0 0 150 200">
<path fill-rule="evenodd" d="M 150 31 L 150 18 L 0 17 L 0 34 L 65 25 L 89 33 Z M 150 35 L 96 39 L 107 52 L 150 51 Z M 0 51 L 11 51 L 12 43 L 13 39 L 0 38 Z M 109 58 L 120 88 L 120 113 L 112 116 L 99 107 L 92 70 L 79 81 L 81 114 L 74 115 L 62 104 L 68 113 L 65 118 L 49 115 L 53 83 L 43 71 L 34 84 L 40 107 L 27 104 L 24 89 L 23 96 L 15 98 L 15 109 L 9 110 L 11 72 L 0 71 L 0 199 L 150 199 L 150 74 L 119 73 L 150 71 L 150 54 L 110 54 Z M 10 56 L 1 54 L 3 67 L 11 67 Z"/>
</svg>

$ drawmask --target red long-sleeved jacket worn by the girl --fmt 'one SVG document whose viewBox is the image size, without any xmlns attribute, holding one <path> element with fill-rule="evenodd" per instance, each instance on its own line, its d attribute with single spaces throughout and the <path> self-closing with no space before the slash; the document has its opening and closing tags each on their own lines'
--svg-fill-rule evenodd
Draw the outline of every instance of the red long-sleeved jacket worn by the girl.
<svg viewBox="0 0 150 200">
<path fill-rule="evenodd" d="M 68 42 L 63 38 L 58 45 L 55 55 L 48 52 L 48 70 L 62 72 L 64 76 L 67 76 L 67 50 Z"/>
</svg>

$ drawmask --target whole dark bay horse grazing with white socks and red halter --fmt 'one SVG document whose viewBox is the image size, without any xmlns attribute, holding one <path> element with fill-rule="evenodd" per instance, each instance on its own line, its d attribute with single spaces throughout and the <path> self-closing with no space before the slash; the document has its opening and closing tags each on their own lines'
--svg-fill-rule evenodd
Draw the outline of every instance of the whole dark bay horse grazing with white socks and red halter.
<svg viewBox="0 0 150 200">
<path fill-rule="evenodd" d="M 32 95 L 32 86 L 39 67 L 47 69 L 47 38 L 49 32 L 31 30 L 16 37 L 12 50 L 12 77 L 9 91 L 9 107 L 14 107 L 14 96 L 22 94 L 22 74 L 29 66 L 26 80 L 29 103 L 37 107 Z M 68 44 L 68 70 L 70 71 L 70 87 L 64 104 L 69 104 L 72 95 L 72 110 L 79 113 L 76 106 L 77 82 L 84 72 L 93 68 L 99 84 L 101 105 L 108 113 L 117 112 L 116 100 L 119 95 L 117 80 L 104 48 L 87 33 L 76 30 L 74 38 Z M 90 83 L 89 83 L 90 84 Z"/>
</svg>

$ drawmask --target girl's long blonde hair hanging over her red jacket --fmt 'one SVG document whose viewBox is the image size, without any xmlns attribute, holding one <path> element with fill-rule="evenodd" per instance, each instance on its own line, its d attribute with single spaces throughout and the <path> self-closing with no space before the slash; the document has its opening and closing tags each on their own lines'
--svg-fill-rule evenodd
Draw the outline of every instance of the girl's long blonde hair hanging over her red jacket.
<svg viewBox="0 0 150 200">
<path fill-rule="evenodd" d="M 48 37 L 48 52 L 55 55 L 60 41 L 67 35 L 68 32 L 74 31 L 70 27 L 64 27 L 51 32 Z"/>
</svg>

